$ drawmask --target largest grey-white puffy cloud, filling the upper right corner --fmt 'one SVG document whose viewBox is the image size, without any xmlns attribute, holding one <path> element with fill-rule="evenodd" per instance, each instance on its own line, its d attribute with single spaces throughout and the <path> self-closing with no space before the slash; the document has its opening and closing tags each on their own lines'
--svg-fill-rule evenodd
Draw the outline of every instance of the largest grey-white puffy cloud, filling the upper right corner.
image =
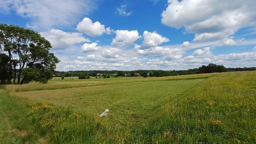
<svg viewBox="0 0 256 144">
<path fill-rule="evenodd" d="M 168 0 L 161 21 L 195 33 L 195 41 L 223 39 L 242 27 L 255 27 L 255 7 L 254 0 Z"/>
</svg>

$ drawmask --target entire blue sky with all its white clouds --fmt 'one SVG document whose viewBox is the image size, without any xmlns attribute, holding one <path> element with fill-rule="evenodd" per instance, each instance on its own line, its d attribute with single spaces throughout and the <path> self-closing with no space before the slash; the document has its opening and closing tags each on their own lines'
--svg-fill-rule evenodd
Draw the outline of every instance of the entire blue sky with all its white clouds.
<svg viewBox="0 0 256 144">
<path fill-rule="evenodd" d="M 256 66 L 255 0 L 5 0 L 0 23 L 49 40 L 56 70 Z"/>
</svg>

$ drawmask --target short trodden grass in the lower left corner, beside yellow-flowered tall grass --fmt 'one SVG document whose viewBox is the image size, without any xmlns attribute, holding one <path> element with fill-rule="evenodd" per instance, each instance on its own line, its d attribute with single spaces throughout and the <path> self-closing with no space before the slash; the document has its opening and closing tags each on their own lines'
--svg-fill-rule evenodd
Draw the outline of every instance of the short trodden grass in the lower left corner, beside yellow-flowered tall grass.
<svg viewBox="0 0 256 144">
<path fill-rule="evenodd" d="M 9 94 L 1 87 L 0 143 L 47 143 L 47 138 L 35 133 L 31 119 L 26 115 L 26 112 L 29 111 L 26 102 L 19 103 L 17 102 L 19 100 L 20 98 L 10 98 Z"/>
</svg>

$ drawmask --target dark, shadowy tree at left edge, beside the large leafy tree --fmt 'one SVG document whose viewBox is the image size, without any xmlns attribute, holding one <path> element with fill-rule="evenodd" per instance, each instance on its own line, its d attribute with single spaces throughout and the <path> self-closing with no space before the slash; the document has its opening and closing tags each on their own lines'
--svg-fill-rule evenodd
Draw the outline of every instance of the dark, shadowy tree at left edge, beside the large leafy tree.
<svg viewBox="0 0 256 144">
<path fill-rule="evenodd" d="M 0 84 L 5 84 L 8 79 L 8 64 L 9 57 L 6 54 L 0 53 Z"/>
</svg>

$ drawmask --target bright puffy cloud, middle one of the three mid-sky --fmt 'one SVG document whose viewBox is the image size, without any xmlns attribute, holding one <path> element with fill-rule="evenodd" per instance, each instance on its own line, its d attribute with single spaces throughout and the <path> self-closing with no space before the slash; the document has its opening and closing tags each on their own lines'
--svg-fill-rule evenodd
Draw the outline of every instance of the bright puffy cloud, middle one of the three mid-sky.
<svg viewBox="0 0 256 144">
<path fill-rule="evenodd" d="M 137 39 L 140 38 L 139 32 L 137 30 L 117 30 L 115 31 L 116 38 L 112 40 L 111 45 L 117 47 L 126 47 L 133 44 Z"/>
</svg>

